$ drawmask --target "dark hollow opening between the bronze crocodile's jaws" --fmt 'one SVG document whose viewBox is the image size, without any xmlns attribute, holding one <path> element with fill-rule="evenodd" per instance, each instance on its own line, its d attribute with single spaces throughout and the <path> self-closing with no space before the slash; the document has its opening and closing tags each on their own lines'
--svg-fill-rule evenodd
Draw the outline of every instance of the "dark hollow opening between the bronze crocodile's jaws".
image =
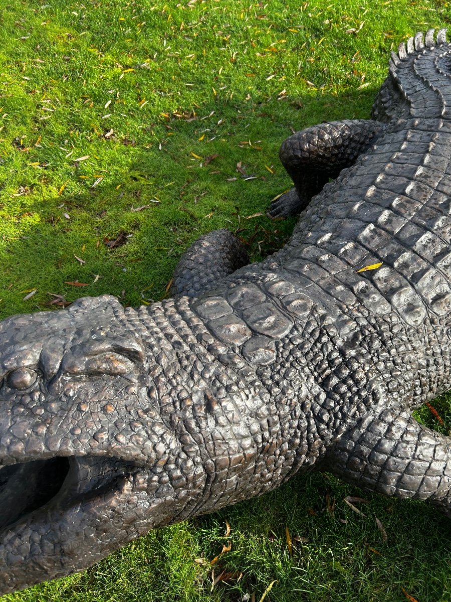
<svg viewBox="0 0 451 602">
<path fill-rule="evenodd" d="M 0 468 L 0 531 L 44 507 L 69 509 L 120 488 L 137 467 L 93 456 L 55 456 Z"/>
</svg>

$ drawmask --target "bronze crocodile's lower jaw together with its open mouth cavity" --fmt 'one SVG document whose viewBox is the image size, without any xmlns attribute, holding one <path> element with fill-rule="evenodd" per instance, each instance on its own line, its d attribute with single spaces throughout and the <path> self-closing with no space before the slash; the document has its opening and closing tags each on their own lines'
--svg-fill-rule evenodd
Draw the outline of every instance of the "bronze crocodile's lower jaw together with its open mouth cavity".
<svg viewBox="0 0 451 602">
<path fill-rule="evenodd" d="M 134 523 L 145 474 L 105 455 L 0 468 L 0 596 L 81 571 L 151 529 Z"/>
</svg>

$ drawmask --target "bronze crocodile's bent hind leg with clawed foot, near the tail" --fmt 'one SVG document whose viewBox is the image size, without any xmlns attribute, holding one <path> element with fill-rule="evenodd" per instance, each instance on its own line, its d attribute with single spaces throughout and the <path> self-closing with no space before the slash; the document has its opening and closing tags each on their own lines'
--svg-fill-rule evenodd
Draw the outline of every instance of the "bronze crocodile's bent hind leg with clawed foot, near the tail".
<svg viewBox="0 0 451 602">
<path fill-rule="evenodd" d="M 287 138 L 279 151 L 280 160 L 295 187 L 273 201 L 269 217 L 300 213 L 329 178 L 351 167 L 385 131 L 385 124 L 369 119 L 321 123 Z"/>
</svg>

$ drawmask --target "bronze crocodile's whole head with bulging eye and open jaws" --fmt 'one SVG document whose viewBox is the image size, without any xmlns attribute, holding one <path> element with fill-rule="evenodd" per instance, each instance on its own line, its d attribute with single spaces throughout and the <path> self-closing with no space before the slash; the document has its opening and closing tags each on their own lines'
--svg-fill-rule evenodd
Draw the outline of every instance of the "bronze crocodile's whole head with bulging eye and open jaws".
<svg viewBox="0 0 451 602">
<path fill-rule="evenodd" d="M 114 297 L 0 323 L 0 595 L 168 522 L 151 364 Z"/>
</svg>

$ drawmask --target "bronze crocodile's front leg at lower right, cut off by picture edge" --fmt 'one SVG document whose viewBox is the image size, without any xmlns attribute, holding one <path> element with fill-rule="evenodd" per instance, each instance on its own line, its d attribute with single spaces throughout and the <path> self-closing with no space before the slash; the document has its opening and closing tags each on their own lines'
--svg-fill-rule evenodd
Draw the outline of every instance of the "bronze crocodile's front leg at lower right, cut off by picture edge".
<svg viewBox="0 0 451 602">
<path fill-rule="evenodd" d="M 358 423 L 328 454 L 325 470 L 367 491 L 429 499 L 451 518 L 451 438 L 394 408 Z"/>
</svg>

